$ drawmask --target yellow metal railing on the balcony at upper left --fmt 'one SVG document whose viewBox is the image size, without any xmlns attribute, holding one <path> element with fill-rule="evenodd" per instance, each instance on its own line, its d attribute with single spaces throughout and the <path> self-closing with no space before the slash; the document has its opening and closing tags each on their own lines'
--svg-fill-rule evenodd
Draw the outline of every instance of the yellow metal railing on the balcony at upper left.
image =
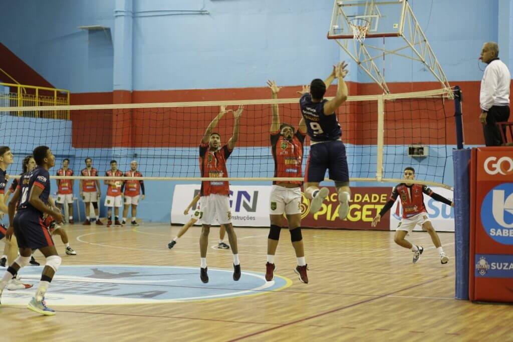
<svg viewBox="0 0 513 342">
<path fill-rule="evenodd" d="M 0 83 L 10 87 L 10 92 L 0 92 L 3 107 L 13 107 L 9 115 L 69 120 L 69 110 L 18 111 L 15 107 L 69 106 L 69 90 L 48 87 L 27 86 L 14 83 Z M 12 90 L 15 90 L 14 92 Z"/>
</svg>

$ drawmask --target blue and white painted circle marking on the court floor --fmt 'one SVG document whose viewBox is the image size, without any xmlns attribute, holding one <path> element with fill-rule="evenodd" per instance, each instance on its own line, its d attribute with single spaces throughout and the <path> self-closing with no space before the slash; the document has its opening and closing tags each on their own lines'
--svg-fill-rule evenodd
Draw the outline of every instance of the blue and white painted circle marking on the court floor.
<svg viewBox="0 0 513 342">
<path fill-rule="evenodd" d="M 28 290 L 5 290 L 2 305 L 27 305 L 41 278 L 42 267 L 20 272 Z M 226 299 L 283 290 L 292 284 L 286 277 L 266 281 L 263 273 L 242 271 L 233 281 L 233 270 L 208 269 L 209 283 L 200 280 L 200 269 L 180 266 L 80 265 L 58 269 L 46 294 L 48 305 L 159 304 L 206 299 Z"/>
</svg>

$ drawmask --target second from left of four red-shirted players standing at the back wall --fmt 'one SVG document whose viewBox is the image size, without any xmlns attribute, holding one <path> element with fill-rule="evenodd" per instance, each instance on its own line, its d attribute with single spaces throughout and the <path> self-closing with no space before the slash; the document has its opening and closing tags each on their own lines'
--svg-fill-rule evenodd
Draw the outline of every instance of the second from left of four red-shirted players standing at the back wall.
<svg viewBox="0 0 513 342">
<path fill-rule="evenodd" d="M 80 174 L 85 177 L 97 177 L 98 170 L 93 168 L 93 159 L 87 157 L 85 159 L 86 168 L 80 171 Z M 91 210 L 91 203 L 94 208 L 94 215 L 96 216 L 96 225 L 103 226 L 100 220 L 100 214 L 98 213 L 98 199 L 102 197 L 102 191 L 100 189 L 100 180 L 94 178 L 81 179 L 80 180 L 80 197 L 84 200 L 86 220 L 84 226 L 91 225 L 91 218 L 89 217 Z"/>
</svg>

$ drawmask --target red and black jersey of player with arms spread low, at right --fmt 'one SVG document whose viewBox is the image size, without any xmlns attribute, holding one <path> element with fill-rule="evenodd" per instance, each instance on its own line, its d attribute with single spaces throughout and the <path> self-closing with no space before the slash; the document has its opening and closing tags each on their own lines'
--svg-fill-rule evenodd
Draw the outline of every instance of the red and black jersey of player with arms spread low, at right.
<svg viewBox="0 0 513 342">
<path fill-rule="evenodd" d="M 380 216 L 383 216 L 390 209 L 397 197 L 401 200 L 403 206 L 403 218 L 409 218 L 422 212 L 427 212 L 424 206 L 424 194 L 432 197 L 439 202 L 450 206 L 452 202 L 447 198 L 433 192 L 427 185 L 413 184 L 411 186 L 401 183 L 393 188 L 388 202 L 381 209 Z"/>
</svg>

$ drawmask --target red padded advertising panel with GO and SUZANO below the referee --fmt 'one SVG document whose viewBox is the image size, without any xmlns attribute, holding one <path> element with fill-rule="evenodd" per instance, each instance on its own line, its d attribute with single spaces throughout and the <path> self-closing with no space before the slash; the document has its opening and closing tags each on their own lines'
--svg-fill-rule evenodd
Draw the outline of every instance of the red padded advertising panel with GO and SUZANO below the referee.
<svg viewBox="0 0 513 342">
<path fill-rule="evenodd" d="M 469 297 L 513 302 L 513 150 L 472 152 Z"/>
</svg>

